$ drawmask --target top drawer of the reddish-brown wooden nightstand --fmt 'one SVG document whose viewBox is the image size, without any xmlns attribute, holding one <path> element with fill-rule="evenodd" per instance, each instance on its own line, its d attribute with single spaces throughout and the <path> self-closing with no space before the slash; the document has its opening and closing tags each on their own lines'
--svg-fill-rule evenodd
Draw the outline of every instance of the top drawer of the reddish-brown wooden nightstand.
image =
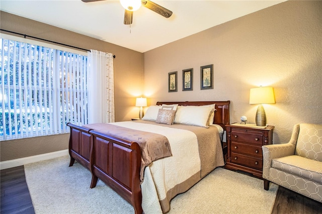
<svg viewBox="0 0 322 214">
<path fill-rule="evenodd" d="M 231 141 L 246 142 L 252 144 L 263 144 L 263 133 L 250 130 L 238 130 L 231 132 Z"/>
</svg>

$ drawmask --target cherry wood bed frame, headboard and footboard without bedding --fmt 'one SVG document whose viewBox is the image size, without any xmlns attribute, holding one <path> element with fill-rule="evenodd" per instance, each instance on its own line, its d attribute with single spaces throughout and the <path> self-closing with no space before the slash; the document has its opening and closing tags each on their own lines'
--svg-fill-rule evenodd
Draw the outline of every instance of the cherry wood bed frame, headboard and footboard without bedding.
<svg viewBox="0 0 322 214">
<path fill-rule="evenodd" d="M 229 100 L 157 102 L 156 105 L 199 106 L 213 103 L 216 110 L 213 124 L 225 130 L 225 125 L 229 124 Z M 72 166 L 75 160 L 81 163 L 92 173 L 91 188 L 94 188 L 98 179 L 101 179 L 132 204 L 135 213 L 142 213 L 142 178 L 140 177 L 142 156 L 139 144 L 86 126 L 81 127 L 70 123 L 67 126 L 70 127 L 69 166 Z M 221 146 L 223 154 L 226 154 L 226 144 L 222 143 Z"/>
</svg>

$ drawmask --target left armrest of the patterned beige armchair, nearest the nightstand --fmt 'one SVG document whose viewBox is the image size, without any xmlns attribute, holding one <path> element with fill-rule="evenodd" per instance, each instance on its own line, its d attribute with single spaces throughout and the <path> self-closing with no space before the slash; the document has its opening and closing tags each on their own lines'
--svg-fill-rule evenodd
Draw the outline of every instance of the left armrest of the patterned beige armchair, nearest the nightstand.
<svg viewBox="0 0 322 214">
<path fill-rule="evenodd" d="M 263 178 L 269 180 L 269 171 L 274 158 L 294 155 L 295 144 L 271 144 L 262 146 L 263 150 Z"/>
</svg>

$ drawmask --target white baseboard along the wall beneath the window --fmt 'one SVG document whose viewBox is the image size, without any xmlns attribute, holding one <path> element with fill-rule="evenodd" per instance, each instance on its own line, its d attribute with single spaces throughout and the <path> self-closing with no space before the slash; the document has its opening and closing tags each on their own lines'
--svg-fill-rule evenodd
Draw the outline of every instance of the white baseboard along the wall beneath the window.
<svg viewBox="0 0 322 214">
<path fill-rule="evenodd" d="M 9 160 L 9 161 L 2 161 L 0 162 L 0 169 L 8 169 L 16 166 L 22 166 L 25 164 L 58 158 L 65 155 L 68 155 L 68 149 L 57 151 L 57 152 L 50 152 L 50 153 L 41 154 L 41 155 L 25 157 L 25 158 Z"/>
</svg>

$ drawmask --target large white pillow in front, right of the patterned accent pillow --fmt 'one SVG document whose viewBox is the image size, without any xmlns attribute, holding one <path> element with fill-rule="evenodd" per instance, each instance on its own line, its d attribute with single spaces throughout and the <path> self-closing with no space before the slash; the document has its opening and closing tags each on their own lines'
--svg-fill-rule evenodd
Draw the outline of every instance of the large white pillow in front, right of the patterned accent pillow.
<svg viewBox="0 0 322 214">
<path fill-rule="evenodd" d="M 213 108 L 203 106 L 180 106 L 177 109 L 175 123 L 209 128 L 209 117 Z"/>
</svg>

